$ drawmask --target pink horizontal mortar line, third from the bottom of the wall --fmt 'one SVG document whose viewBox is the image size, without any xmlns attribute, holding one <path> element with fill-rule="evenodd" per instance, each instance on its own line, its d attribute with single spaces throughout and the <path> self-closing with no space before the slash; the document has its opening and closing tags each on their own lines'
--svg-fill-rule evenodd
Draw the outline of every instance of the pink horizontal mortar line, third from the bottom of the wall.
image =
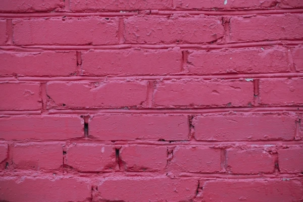
<svg viewBox="0 0 303 202">
<path fill-rule="evenodd" d="M 303 112 L 303 106 L 298 107 L 234 107 L 234 108 L 205 108 L 205 109 L 50 109 L 43 115 L 53 114 L 213 114 L 213 113 L 254 113 L 254 112 Z M 41 111 L 0 110 L 0 115 L 41 115 Z"/>
</svg>

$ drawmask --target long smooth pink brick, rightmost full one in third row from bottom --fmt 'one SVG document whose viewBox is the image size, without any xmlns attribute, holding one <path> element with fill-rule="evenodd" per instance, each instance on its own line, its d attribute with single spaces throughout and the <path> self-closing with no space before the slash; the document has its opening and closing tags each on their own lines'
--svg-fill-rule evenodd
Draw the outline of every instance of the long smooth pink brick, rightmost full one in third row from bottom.
<svg viewBox="0 0 303 202">
<path fill-rule="evenodd" d="M 266 114 L 197 116 L 194 136 L 216 141 L 293 140 L 295 119 Z"/>
</svg>

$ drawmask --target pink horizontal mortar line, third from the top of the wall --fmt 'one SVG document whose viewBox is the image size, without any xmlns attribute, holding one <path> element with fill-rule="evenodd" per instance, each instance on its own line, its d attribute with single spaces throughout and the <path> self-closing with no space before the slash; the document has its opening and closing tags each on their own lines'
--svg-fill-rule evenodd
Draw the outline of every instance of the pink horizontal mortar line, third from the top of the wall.
<svg viewBox="0 0 303 202">
<path fill-rule="evenodd" d="M 14 77 L 5 76 L 0 77 L 0 82 L 47 82 L 47 81 L 83 81 L 83 82 L 105 82 L 105 81 L 141 81 L 141 80 L 182 80 L 182 79 L 277 79 L 277 78 L 298 78 L 303 77 L 303 72 L 289 72 L 289 73 L 249 73 L 249 74 L 214 74 L 214 75 L 162 75 L 162 76 L 54 76 L 54 77 Z M 247 81 L 250 82 L 250 81 Z"/>
</svg>

